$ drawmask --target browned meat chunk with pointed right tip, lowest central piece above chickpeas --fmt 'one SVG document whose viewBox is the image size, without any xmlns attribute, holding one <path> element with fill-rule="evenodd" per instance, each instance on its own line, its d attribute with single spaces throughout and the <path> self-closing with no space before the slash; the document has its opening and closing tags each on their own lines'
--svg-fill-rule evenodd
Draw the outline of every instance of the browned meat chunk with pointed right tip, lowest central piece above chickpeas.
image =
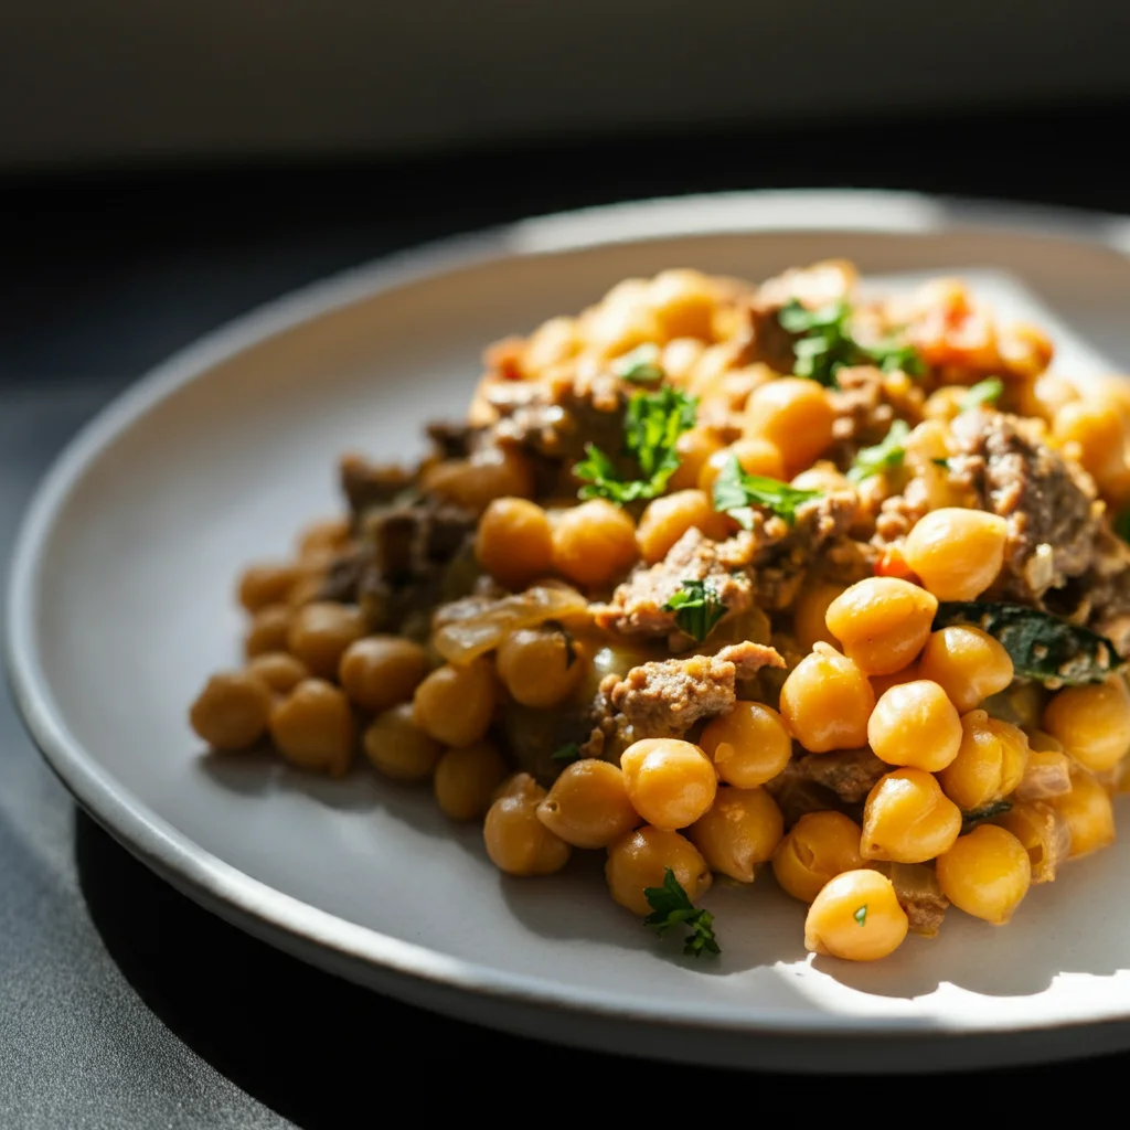
<svg viewBox="0 0 1130 1130">
<path fill-rule="evenodd" d="M 736 680 L 763 667 L 784 667 L 784 660 L 765 644 L 739 643 L 716 655 L 644 663 L 623 679 L 609 676 L 601 694 L 636 739 L 678 737 L 699 719 L 729 711 L 737 702 Z"/>
</svg>

